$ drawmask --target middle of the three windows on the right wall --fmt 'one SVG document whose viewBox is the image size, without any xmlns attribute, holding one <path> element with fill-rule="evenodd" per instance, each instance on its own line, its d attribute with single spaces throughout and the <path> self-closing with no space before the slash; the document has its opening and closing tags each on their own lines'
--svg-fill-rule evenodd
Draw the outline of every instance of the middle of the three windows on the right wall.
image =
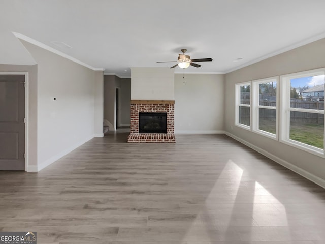
<svg viewBox="0 0 325 244">
<path fill-rule="evenodd" d="M 252 129 L 276 139 L 278 78 L 252 81 Z"/>
</svg>

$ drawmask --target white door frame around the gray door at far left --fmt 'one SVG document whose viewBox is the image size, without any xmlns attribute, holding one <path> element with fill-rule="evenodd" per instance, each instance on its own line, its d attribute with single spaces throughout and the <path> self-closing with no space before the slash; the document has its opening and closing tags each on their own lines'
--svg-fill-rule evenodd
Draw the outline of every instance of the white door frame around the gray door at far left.
<svg viewBox="0 0 325 244">
<path fill-rule="evenodd" d="M 28 169 L 28 72 L 27 71 L 0 71 L 0 75 L 25 75 L 25 172 Z"/>
</svg>

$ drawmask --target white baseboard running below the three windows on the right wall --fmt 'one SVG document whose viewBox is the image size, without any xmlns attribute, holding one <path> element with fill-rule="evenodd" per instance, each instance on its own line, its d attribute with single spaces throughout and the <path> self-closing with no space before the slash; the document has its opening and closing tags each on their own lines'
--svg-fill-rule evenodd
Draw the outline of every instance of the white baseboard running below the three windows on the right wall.
<svg viewBox="0 0 325 244">
<path fill-rule="evenodd" d="M 243 143 L 244 145 L 252 148 L 253 150 L 257 151 L 258 153 L 264 155 L 265 157 L 269 158 L 269 159 L 272 159 L 273 161 L 275 161 L 276 163 L 290 169 L 291 171 L 294 171 L 295 173 L 303 176 L 304 178 L 314 182 L 315 184 L 317 184 L 318 186 L 321 186 L 322 188 L 325 188 L 325 180 L 322 179 L 322 178 L 319 178 L 318 176 L 314 175 L 314 174 L 311 174 L 309 173 L 308 171 L 294 165 L 294 164 L 291 164 L 273 154 L 270 154 L 268 151 L 262 149 L 262 148 L 259 148 L 251 143 L 249 143 L 248 141 L 245 141 L 229 132 L 225 132 L 224 134 L 230 136 L 231 138 L 235 139 L 236 141 L 239 141 L 241 143 Z"/>
</svg>

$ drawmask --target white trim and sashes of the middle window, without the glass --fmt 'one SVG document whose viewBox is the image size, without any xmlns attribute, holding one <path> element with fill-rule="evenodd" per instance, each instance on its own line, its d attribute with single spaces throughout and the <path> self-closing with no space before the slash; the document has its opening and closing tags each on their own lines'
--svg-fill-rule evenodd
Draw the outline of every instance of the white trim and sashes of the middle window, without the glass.
<svg viewBox="0 0 325 244">
<path fill-rule="evenodd" d="M 263 83 L 268 83 L 268 82 L 276 82 L 276 107 L 274 106 L 263 106 L 259 105 L 259 84 Z M 252 98 L 252 108 L 251 108 L 251 116 L 253 118 L 253 121 L 251 123 L 252 131 L 269 137 L 274 140 L 278 140 L 278 135 L 279 135 L 279 77 L 274 76 L 274 77 L 269 77 L 269 78 L 264 78 L 264 79 L 259 79 L 259 80 L 253 80 L 252 81 L 252 86 L 251 86 L 251 98 Z M 267 131 L 259 130 L 258 125 L 259 125 L 259 108 L 266 108 L 266 109 L 274 109 L 276 110 L 276 134 L 272 134 Z"/>
</svg>

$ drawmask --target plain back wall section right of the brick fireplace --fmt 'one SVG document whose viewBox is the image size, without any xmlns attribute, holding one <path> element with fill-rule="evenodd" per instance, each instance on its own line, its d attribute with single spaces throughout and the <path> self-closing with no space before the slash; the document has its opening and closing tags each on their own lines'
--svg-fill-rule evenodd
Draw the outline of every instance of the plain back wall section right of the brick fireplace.
<svg viewBox="0 0 325 244">
<path fill-rule="evenodd" d="M 224 75 L 175 74 L 175 133 L 222 133 Z"/>
</svg>

